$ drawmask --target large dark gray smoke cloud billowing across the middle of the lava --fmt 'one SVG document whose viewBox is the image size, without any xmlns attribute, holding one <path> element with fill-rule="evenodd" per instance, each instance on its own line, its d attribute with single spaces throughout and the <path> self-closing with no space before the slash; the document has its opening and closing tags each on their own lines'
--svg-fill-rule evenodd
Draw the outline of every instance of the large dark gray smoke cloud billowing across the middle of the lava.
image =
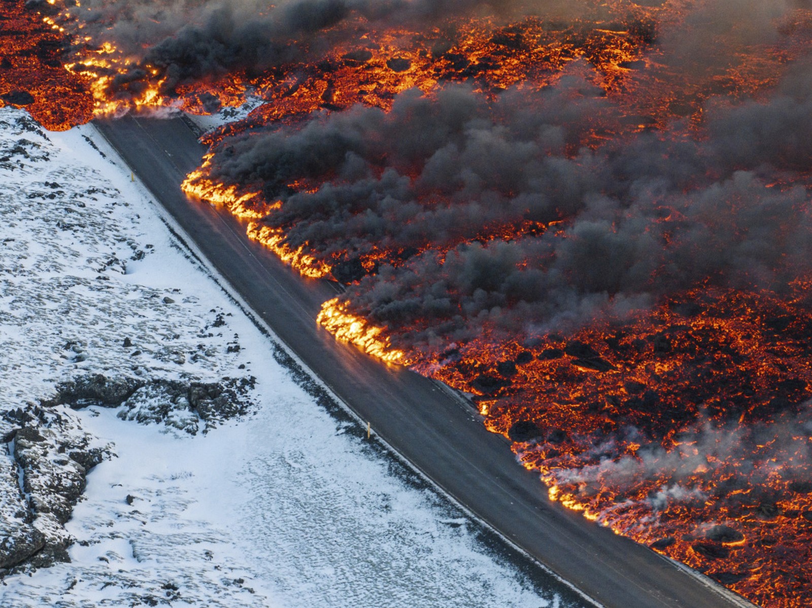
<svg viewBox="0 0 812 608">
<path fill-rule="evenodd" d="M 486 322 L 571 328 L 699 282 L 781 291 L 812 270 L 806 189 L 767 182 L 810 153 L 809 83 L 793 76 L 792 95 L 712 111 L 710 140 L 645 133 L 575 153 L 597 117 L 615 120 L 583 81 L 495 101 L 464 85 L 412 91 L 388 114 L 358 106 L 225 140 L 213 176 L 282 198 L 266 224 L 331 264 L 394 252 L 344 297 L 395 334 L 408 328 L 399 341 L 438 347 Z M 303 178 L 322 186 L 287 192 Z"/>
</svg>

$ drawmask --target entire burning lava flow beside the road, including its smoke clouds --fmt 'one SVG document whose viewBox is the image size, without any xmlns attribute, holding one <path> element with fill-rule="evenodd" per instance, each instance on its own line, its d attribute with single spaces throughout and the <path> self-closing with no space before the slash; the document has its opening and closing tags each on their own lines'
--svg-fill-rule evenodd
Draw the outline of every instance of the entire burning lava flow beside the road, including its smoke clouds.
<svg viewBox="0 0 812 608">
<path fill-rule="evenodd" d="M 323 326 L 471 394 L 552 499 L 809 604 L 802 3 L 9 6 L 84 100 L 47 127 L 261 101 L 184 190 L 345 284 Z"/>
</svg>

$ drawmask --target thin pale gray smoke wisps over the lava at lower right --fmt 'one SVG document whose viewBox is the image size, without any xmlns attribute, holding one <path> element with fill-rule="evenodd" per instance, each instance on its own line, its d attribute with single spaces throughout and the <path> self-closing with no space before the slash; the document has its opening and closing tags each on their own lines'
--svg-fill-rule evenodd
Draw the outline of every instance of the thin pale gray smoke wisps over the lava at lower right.
<svg viewBox="0 0 812 608">
<path fill-rule="evenodd" d="M 641 447 L 636 455 L 623 453 L 617 437 L 593 443 L 590 450 L 579 455 L 581 465 L 568 462 L 556 466 L 555 457 L 548 461 L 552 481 L 567 491 L 574 491 L 590 501 L 598 490 L 611 488 L 624 495 L 615 508 L 601 511 L 603 524 L 628 524 L 627 511 L 636 509 L 636 518 L 646 514 L 641 524 L 654 534 L 659 515 L 671 507 L 692 506 L 697 511 L 711 507 L 732 518 L 745 512 L 770 509 L 776 502 L 793 496 L 793 492 L 808 491 L 808 470 L 812 452 L 807 437 L 812 430 L 810 412 L 784 412 L 769 424 L 719 426 L 712 420 L 698 420 L 682 429 L 675 437 L 676 446 L 664 449 L 646 441 L 634 429 L 626 429 L 625 440 L 637 441 Z M 520 456 L 532 457 L 535 451 L 548 451 L 549 444 L 531 444 L 521 448 Z M 609 455 L 615 455 L 611 457 Z M 775 484 L 776 476 L 784 484 Z M 657 480 L 659 488 L 641 498 L 628 498 L 640 480 Z M 746 489 L 745 493 L 741 493 Z M 769 511 L 761 511 L 762 514 Z M 708 515 L 712 518 L 712 515 Z M 698 530 L 709 524 L 724 524 L 725 520 L 698 518 Z M 741 528 L 741 524 L 736 524 Z M 689 532 L 689 530 L 688 530 Z"/>
</svg>

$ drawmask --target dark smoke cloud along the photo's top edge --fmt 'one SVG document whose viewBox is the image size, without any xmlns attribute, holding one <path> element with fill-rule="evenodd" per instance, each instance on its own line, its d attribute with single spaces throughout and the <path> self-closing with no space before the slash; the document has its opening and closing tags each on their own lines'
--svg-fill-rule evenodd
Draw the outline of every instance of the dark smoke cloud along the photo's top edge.
<svg viewBox="0 0 812 608">
<path fill-rule="evenodd" d="M 126 97 L 139 93 L 157 68 L 163 93 L 180 84 L 209 81 L 233 71 L 266 74 L 276 67 L 317 62 L 340 42 L 363 33 L 328 32 L 348 19 L 365 19 L 367 28 L 400 24 L 435 25 L 449 16 L 557 15 L 570 19 L 587 2 L 515 2 L 514 0 L 89 0 L 72 8 L 71 26 L 82 28 L 92 44 L 104 41 L 135 63 L 110 85 Z M 363 26 L 362 26 L 363 27 Z"/>
</svg>

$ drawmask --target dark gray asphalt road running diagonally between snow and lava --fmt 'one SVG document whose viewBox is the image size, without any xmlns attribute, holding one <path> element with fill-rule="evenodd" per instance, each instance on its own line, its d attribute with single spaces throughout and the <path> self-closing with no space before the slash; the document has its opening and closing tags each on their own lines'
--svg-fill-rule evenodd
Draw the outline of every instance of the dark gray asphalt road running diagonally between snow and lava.
<svg viewBox="0 0 812 608">
<path fill-rule="evenodd" d="M 300 360 L 374 433 L 512 543 L 607 608 L 731 608 L 747 604 L 645 546 L 551 502 L 504 438 L 460 399 L 408 369 L 339 343 L 316 323 L 335 283 L 300 277 L 225 211 L 190 201 L 179 184 L 205 148 L 184 119 L 98 122 L 141 182 L 210 264 Z"/>
</svg>

